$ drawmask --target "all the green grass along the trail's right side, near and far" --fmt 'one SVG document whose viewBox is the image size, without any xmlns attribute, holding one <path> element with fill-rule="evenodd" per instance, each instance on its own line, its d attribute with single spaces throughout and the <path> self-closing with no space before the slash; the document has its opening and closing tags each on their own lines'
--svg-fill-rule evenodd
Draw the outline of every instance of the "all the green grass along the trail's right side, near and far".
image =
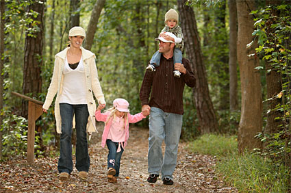
<svg viewBox="0 0 291 193">
<path fill-rule="evenodd" d="M 190 142 L 193 153 L 217 156 L 216 172 L 239 192 L 288 192 L 290 169 L 255 153 L 238 154 L 236 136 L 206 134 Z"/>
</svg>

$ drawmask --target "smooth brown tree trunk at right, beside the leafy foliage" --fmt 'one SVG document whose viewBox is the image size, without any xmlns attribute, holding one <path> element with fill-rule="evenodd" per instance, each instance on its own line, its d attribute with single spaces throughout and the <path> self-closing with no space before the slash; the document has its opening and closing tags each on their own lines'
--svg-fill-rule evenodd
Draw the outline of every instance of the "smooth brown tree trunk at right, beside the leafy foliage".
<svg viewBox="0 0 291 193">
<path fill-rule="evenodd" d="M 242 89 L 242 108 L 240 125 L 238 128 L 238 150 L 243 153 L 244 149 L 252 150 L 260 148 L 260 141 L 255 135 L 262 131 L 262 90 L 260 72 L 255 67 L 259 65 L 259 58 L 255 53 L 257 43 L 246 48 L 253 40 L 253 16 L 255 1 L 236 1 L 238 11 L 238 64 L 240 66 L 240 82 Z"/>
</svg>

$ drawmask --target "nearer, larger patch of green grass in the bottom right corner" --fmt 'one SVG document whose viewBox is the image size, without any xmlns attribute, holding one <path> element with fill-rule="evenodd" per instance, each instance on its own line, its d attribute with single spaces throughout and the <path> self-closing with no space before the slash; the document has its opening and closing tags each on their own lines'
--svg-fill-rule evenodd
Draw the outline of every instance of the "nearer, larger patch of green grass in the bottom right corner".
<svg viewBox="0 0 291 193">
<path fill-rule="evenodd" d="M 268 158 L 251 153 L 233 153 L 216 164 L 216 172 L 239 192 L 288 192 L 290 170 Z"/>
</svg>

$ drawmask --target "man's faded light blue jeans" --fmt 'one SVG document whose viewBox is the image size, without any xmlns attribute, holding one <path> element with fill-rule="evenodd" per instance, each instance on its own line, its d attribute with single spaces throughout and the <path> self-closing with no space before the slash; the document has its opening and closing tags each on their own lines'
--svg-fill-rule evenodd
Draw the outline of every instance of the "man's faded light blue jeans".
<svg viewBox="0 0 291 193">
<path fill-rule="evenodd" d="M 157 107 L 151 107 L 149 115 L 149 153 L 148 172 L 173 179 L 173 172 L 177 164 L 178 144 L 181 135 L 183 116 L 181 114 L 166 113 Z M 164 159 L 162 142 L 166 144 Z"/>
</svg>

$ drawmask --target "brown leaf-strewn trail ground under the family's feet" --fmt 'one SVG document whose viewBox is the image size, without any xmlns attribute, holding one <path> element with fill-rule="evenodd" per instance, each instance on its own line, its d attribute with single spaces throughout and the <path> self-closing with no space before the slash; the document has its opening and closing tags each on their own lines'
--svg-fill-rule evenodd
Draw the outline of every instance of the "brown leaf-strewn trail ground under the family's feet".
<svg viewBox="0 0 291 193">
<path fill-rule="evenodd" d="M 221 181 L 214 172 L 216 159 L 189 153 L 186 143 L 179 144 L 174 184 L 163 185 L 159 178 L 148 183 L 148 129 L 130 128 L 128 145 L 121 157 L 117 183 L 107 182 L 107 148 L 101 147 L 102 128 L 90 141 L 88 179 L 80 179 L 74 168 L 67 181 L 60 181 L 58 157 L 0 162 L 0 192 L 238 192 Z M 74 157 L 75 159 L 75 157 Z"/>
</svg>

